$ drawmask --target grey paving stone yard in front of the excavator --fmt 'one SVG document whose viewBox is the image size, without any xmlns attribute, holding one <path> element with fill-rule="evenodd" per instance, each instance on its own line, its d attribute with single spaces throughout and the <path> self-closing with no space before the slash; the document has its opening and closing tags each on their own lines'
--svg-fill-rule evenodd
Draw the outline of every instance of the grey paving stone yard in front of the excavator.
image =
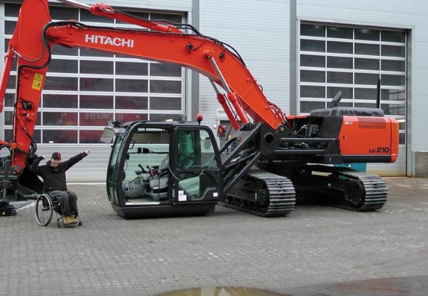
<svg viewBox="0 0 428 296">
<path fill-rule="evenodd" d="M 0 217 L 0 295 L 145 296 L 208 286 L 303 295 L 299 287 L 428 279 L 428 179 L 386 181 L 388 202 L 375 212 L 298 205 L 287 217 L 262 218 L 217 206 L 212 216 L 132 220 L 112 210 L 104 184 L 70 184 L 81 227 L 39 226 L 34 202 Z"/>
</svg>

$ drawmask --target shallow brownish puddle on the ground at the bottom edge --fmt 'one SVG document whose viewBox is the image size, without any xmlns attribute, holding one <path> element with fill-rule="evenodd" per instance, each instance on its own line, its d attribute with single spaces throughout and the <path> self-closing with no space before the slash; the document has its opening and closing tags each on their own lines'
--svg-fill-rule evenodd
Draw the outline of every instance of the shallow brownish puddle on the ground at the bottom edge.
<svg viewBox="0 0 428 296">
<path fill-rule="evenodd" d="M 203 287 L 170 291 L 156 296 L 291 296 L 246 287 Z"/>
</svg>

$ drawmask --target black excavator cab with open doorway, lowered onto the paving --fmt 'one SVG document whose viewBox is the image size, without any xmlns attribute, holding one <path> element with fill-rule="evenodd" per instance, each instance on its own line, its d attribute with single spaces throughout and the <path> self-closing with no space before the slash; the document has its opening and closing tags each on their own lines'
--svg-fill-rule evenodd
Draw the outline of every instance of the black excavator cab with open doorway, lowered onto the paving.
<svg viewBox="0 0 428 296">
<path fill-rule="evenodd" d="M 107 133 L 112 134 L 112 128 Z M 113 133 L 107 192 L 119 215 L 213 212 L 222 196 L 223 178 L 219 150 L 208 127 L 138 121 Z"/>
</svg>

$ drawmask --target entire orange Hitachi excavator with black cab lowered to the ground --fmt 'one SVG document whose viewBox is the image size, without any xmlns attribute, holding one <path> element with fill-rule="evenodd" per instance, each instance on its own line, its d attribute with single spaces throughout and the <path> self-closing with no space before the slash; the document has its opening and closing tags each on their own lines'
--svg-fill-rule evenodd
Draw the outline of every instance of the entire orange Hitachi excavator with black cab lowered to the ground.
<svg viewBox="0 0 428 296">
<path fill-rule="evenodd" d="M 216 204 L 284 216 L 296 200 L 359 211 L 376 210 L 386 202 L 381 177 L 333 166 L 395 162 L 398 122 L 381 109 L 338 107 L 337 96 L 332 108 L 286 116 L 267 100 L 233 47 L 191 25 L 147 21 L 105 4 L 61 2 L 141 29 L 51 22 L 47 0 L 24 1 L 0 81 L 3 99 L 16 58 L 13 140 L 0 140 L 0 152 L 6 154 L 0 163 L 0 213 L 14 214 L 10 202 L 25 195 L 24 189 L 41 190 L 28 166 L 37 150 L 32 136 L 53 46 L 121 53 L 195 70 L 209 79 L 235 129 L 219 147 L 200 115 L 196 122 L 184 116 L 165 122 L 110 122 L 101 138 L 112 144 L 107 195 L 125 218 L 207 214 Z M 219 126 L 218 134 L 224 132 Z"/>
</svg>

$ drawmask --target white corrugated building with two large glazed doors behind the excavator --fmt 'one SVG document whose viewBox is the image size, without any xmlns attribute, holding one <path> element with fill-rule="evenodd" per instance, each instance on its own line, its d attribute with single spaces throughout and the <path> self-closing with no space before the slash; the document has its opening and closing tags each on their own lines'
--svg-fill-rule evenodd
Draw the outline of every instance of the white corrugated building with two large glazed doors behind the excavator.
<svg viewBox="0 0 428 296">
<path fill-rule="evenodd" d="M 94 1 L 86 1 L 94 4 Z M 0 4 L 0 46 L 7 49 L 20 2 Z M 428 176 L 428 4 L 412 1 L 185 0 L 109 1 L 116 10 L 150 20 L 189 23 L 232 45 L 243 57 L 266 97 L 287 114 L 330 107 L 342 91 L 341 106 L 375 107 L 381 79 L 381 108 L 400 123 L 400 151 L 394 164 L 369 164 L 383 176 Z M 133 27 L 52 2 L 55 20 Z M 4 58 L 0 60 L 0 68 Z M 12 72 L 0 136 L 10 138 Z M 34 138 L 39 155 L 60 151 L 66 159 L 92 149 L 69 171 L 69 182 L 104 181 L 110 146 L 98 136 L 108 120 L 164 120 L 179 114 L 217 129 L 223 120 L 209 81 L 191 70 L 128 56 L 54 47 Z"/>
</svg>

